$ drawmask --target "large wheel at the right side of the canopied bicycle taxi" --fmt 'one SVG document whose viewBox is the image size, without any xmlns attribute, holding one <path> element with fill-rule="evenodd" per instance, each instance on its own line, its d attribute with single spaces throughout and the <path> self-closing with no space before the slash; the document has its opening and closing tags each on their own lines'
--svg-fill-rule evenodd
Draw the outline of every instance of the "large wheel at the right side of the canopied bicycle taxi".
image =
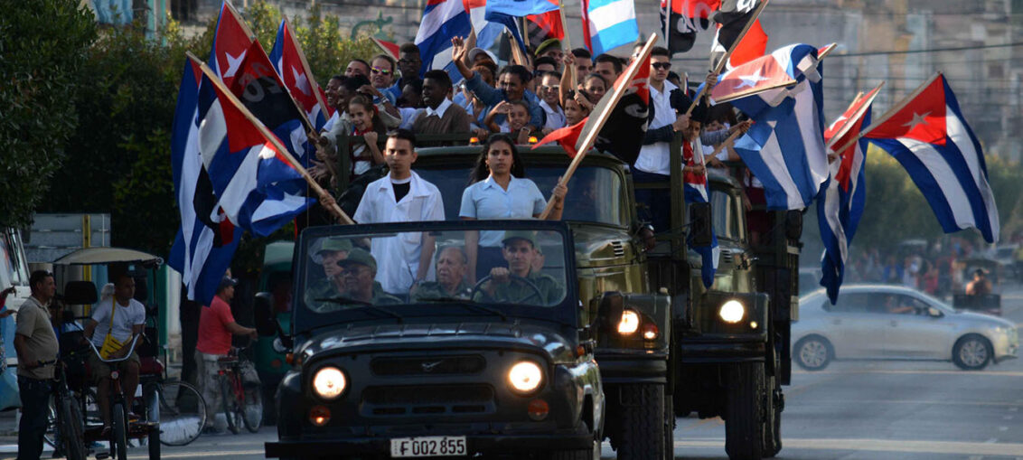
<svg viewBox="0 0 1023 460">
<path fill-rule="evenodd" d="M 206 426 L 206 401 L 194 386 L 183 381 L 157 383 L 160 398 L 160 443 L 187 446 Z"/>
</svg>

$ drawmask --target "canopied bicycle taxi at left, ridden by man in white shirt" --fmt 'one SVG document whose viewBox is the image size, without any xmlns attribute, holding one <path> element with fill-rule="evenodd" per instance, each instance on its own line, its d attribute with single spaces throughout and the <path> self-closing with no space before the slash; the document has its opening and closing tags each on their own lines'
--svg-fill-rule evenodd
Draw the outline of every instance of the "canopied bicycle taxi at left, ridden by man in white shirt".
<svg viewBox="0 0 1023 460">
<path fill-rule="evenodd" d="M 167 366 L 166 343 L 160 343 L 158 319 L 160 308 L 149 283 L 155 280 L 155 273 L 163 259 L 134 249 L 119 247 L 91 247 L 79 249 L 54 261 L 57 279 L 65 281 L 62 301 L 63 324 L 60 326 L 60 356 L 68 369 L 69 386 L 78 395 L 83 415 L 83 442 L 86 447 L 96 447 L 97 459 L 127 459 L 132 442 L 146 444 L 150 460 L 160 459 L 160 446 L 184 446 L 202 432 L 206 423 L 206 405 L 202 395 L 190 384 L 171 378 Z M 74 280 L 80 277 L 81 267 L 104 266 L 127 271 L 136 280 L 135 300 L 145 306 L 144 332 L 125 344 L 129 352 L 124 358 L 102 359 L 112 368 L 109 417 L 110 428 L 103 431 L 99 413 L 95 379 L 88 366 L 89 357 L 99 355 L 94 344 L 84 337 L 84 325 L 89 320 L 87 306 L 97 305 L 101 285 L 92 281 Z M 126 407 L 122 394 L 118 366 L 136 352 L 140 360 L 139 383 L 135 392 L 134 407 Z M 129 414 L 139 414 L 138 419 L 129 419 Z M 55 409 L 51 409 L 50 426 L 56 426 Z M 52 443 L 54 435 L 48 435 Z M 103 446 L 105 443 L 105 446 Z"/>
</svg>

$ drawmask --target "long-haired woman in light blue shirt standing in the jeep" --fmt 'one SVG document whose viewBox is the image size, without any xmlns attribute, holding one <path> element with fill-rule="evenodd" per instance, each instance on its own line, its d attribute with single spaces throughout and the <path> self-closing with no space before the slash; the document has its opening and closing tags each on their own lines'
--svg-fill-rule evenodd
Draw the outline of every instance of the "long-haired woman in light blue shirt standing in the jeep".
<svg viewBox="0 0 1023 460">
<path fill-rule="evenodd" d="M 507 135 L 491 134 L 480 152 L 470 178 L 472 185 L 461 194 L 462 220 L 539 218 L 547 200 L 536 183 L 526 179 L 526 168 L 515 142 Z M 562 218 L 568 188 L 557 185 L 551 191 L 553 209 L 547 220 Z M 475 283 L 504 264 L 501 254 L 502 231 L 470 232 L 465 235 L 470 282 Z"/>
</svg>

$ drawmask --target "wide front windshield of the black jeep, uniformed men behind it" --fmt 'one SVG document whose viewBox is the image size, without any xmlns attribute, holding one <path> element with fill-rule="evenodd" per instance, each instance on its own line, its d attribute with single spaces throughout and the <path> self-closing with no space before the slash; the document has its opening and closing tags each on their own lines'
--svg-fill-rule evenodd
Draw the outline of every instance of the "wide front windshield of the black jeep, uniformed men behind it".
<svg viewBox="0 0 1023 460">
<path fill-rule="evenodd" d="M 499 247 L 466 250 L 478 241 L 475 230 L 374 228 L 381 230 L 305 238 L 303 311 L 402 319 L 416 313 L 405 306 L 448 304 L 503 316 L 504 306 L 550 308 L 566 296 L 566 243 L 557 231 L 490 230 L 500 233 Z M 476 280 L 471 258 L 483 273 Z M 420 261 L 428 266 L 420 269 Z"/>
</svg>

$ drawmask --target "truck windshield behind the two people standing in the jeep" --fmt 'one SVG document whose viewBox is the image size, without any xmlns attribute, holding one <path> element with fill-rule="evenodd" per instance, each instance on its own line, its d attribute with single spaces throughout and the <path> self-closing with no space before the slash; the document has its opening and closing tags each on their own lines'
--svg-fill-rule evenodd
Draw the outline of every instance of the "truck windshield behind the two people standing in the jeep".
<svg viewBox="0 0 1023 460">
<path fill-rule="evenodd" d="M 416 169 L 415 172 L 440 189 L 441 196 L 444 197 L 444 216 L 448 220 L 458 220 L 461 193 L 470 185 L 470 168 L 461 168 L 461 165 L 452 165 L 450 168 L 431 165 Z M 563 174 L 564 166 L 531 166 L 526 170 L 526 178 L 536 183 L 546 199 L 550 199 L 550 191 Z M 562 220 L 628 225 L 625 187 L 621 177 L 614 171 L 580 167 L 569 181 L 568 188 Z"/>
</svg>

